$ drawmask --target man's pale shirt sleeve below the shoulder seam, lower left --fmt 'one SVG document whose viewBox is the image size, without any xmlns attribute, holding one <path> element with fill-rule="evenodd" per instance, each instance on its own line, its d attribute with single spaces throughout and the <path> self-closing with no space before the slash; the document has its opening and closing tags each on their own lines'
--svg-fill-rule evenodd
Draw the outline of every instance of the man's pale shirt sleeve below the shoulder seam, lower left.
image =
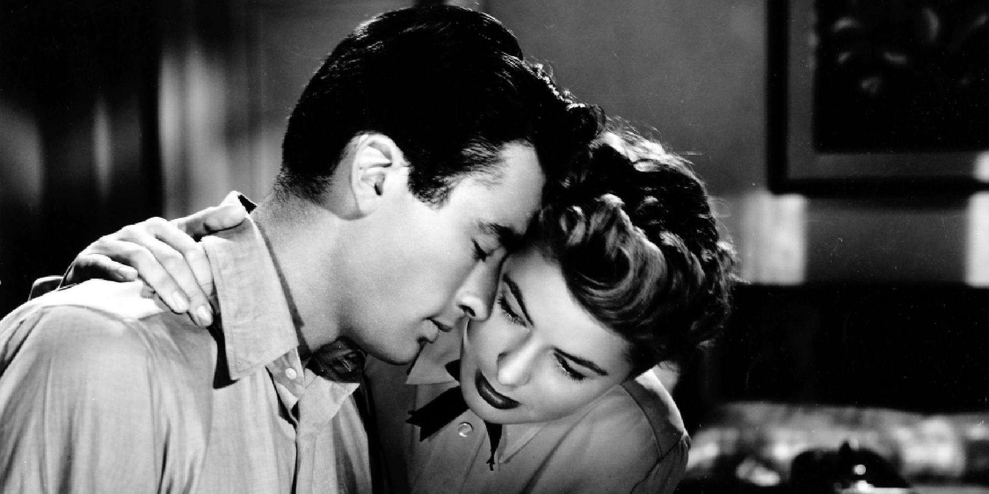
<svg viewBox="0 0 989 494">
<path fill-rule="evenodd" d="M 0 324 L 0 492 L 183 490 L 162 478 L 158 390 L 135 330 L 80 307 L 9 319 Z"/>
</svg>

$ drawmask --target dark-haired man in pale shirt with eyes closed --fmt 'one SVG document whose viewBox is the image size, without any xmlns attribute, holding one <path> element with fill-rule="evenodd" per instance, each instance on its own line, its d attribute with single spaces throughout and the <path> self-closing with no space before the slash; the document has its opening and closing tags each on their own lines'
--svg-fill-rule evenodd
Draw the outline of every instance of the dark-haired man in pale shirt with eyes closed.
<svg viewBox="0 0 989 494">
<path fill-rule="evenodd" d="M 204 239 L 210 332 L 139 283 L 0 322 L 0 491 L 369 492 L 360 352 L 407 363 L 487 317 L 544 186 L 597 126 L 486 15 L 358 27 L 293 111 L 273 193 Z"/>
</svg>

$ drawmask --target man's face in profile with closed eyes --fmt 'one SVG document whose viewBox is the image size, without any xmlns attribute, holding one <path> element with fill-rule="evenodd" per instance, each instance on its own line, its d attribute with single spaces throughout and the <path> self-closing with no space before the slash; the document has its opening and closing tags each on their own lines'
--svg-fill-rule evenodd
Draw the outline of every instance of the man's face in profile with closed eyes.
<svg viewBox="0 0 989 494">
<path fill-rule="evenodd" d="M 407 175 L 401 191 L 383 196 L 354 239 L 361 251 L 349 256 L 355 276 L 345 336 L 376 358 L 403 364 L 439 331 L 488 317 L 505 243 L 525 231 L 545 182 L 532 147 L 508 144 L 501 158 L 494 179 L 464 178 L 442 206 L 416 199 Z"/>
</svg>

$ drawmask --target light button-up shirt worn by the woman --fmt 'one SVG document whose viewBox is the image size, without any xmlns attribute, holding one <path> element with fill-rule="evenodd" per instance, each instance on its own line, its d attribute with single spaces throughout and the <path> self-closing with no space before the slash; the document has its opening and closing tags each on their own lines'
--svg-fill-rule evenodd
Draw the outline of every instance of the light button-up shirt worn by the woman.
<svg viewBox="0 0 989 494">
<path fill-rule="evenodd" d="M 468 410 L 424 441 L 405 423 L 457 384 L 462 331 L 441 334 L 407 372 L 370 360 L 370 383 L 392 490 L 398 493 L 671 493 L 686 468 L 689 438 L 670 394 L 646 372 L 577 413 L 509 424 L 488 464 L 484 421 Z"/>
</svg>

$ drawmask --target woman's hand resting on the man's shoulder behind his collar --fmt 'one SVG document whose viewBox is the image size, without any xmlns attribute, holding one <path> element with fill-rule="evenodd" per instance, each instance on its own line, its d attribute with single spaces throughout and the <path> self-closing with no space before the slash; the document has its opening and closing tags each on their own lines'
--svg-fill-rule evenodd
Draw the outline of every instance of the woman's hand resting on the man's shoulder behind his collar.
<svg viewBox="0 0 989 494">
<path fill-rule="evenodd" d="M 197 324 L 209 326 L 213 274 L 196 239 L 244 220 L 247 210 L 237 197 L 233 192 L 220 206 L 172 221 L 152 217 L 100 237 L 76 256 L 62 285 L 90 279 L 132 282 L 140 277 L 173 311 L 189 312 Z"/>
</svg>

